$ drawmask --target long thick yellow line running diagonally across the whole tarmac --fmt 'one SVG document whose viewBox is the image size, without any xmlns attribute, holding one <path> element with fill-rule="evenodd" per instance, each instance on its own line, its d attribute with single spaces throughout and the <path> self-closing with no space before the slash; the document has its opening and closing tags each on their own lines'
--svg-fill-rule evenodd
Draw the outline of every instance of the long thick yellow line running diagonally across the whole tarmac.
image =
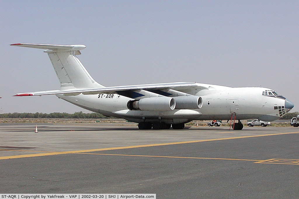
<svg viewBox="0 0 299 199">
<path fill-rule="evenodd" d="M 47 156 L 47 155 L 86 153 L 86 152 L 94 152 L 94 151 L 108 151 L 108 150 L 117 150 L 117 149 L 132 149 L 132 148 L 149 147 L 149 146 L 166 146 L 166 145 L 174 145 L 174 144 L 187 144 L 187 143 L 198 143 L 198 142 L 208 142 L 208 141 L 218 141 L 218 140 L 232 140 L 232 139 L 239 139 L 239 138 L 263 137 L 263 136 L 270 136 L 270 135 L 285 135 L 285 134 L 294 134 L 294 133 L 299 133 L 299 132 L 276 133 L 276 134 L 274 133 L 274 134 L 251 135 L 251 136 L 241 136 L 241 137 L 226 137 L 226 138 L 217 138 L 217 139 L 208 139 L 208 140 L 193 140 L 193 141 L 173 142 L 173 143 L 146 144 L 146 145 L 112 147 L 112 148 L 103 148 L 103 149 L 87 149 L 87 150 L 77 150 L 77 151 L 62 151 L 62 152 L 48 152 L 48 153 L 27 154 L 27 155 L 13 155 L 13 156 L 0 157 L 0 160 L 22 158 L 22 157 L 39 157 L 39 156 Z"/>
</svg>

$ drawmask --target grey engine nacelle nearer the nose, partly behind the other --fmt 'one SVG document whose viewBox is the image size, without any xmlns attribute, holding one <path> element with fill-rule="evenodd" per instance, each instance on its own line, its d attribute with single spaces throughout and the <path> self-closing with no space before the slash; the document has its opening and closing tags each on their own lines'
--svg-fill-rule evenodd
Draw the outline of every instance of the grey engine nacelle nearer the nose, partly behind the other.
<svg viewBox="0 0 299 199">
<path fill-rule="evenodd" d="M 176 109 L 202 108 L 202 98 L 198 96 L 173 97 L 176 100 Z"/>
</svg>

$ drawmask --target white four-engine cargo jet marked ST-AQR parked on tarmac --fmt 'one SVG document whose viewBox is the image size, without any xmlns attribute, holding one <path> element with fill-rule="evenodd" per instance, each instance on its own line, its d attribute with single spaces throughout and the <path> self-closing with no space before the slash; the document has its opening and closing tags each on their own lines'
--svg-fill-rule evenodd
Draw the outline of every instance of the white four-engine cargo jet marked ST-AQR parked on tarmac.
<svg viewBox="0 0 299 199">
<path fill-rule="evenodd" d="M 86 71 L 76 55 L 85 45 L 11 44 L 46 49 L 60 90 L 20 93 L 15 96 L 52 95 L 105 116 L 138 123 L 139 129 L 184 128 L 192 120 L 240 120 L 257 118 L 274 121 L 294 104 L 269 88 L 175 82 L 105 87 Z M 235 121 L 234 120 L 234 121 Z"/>
</svg>

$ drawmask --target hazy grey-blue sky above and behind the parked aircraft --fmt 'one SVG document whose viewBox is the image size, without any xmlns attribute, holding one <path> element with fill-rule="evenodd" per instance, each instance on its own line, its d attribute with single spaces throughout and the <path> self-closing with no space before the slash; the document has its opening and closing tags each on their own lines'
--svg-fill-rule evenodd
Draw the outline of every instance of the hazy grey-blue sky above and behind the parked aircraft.
<svg viewBox="0 0 299 199">
<path fill-rule="evenodd" d="M 83 111 L 56 96 L 47 53 L 13 43 L 83 44 L 105 86 L 200 82 L 276 90 L 299 111 L 299 1 L 1 1 L 0 107 Z M 88 111 L 85 111 L 88 112 Z"/>
</svg>

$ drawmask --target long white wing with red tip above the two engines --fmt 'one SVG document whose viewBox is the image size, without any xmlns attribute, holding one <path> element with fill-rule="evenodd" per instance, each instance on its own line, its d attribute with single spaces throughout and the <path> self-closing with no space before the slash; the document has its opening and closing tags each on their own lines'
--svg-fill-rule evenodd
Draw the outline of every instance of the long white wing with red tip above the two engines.
<svg viewBox="0 0 299 199">
<path fill-rule="evenodd" d="M 33 96 L 33 95 L 55 95 L 55 94 L 67 94 L 67 95 L 79 95 L 79 94 L 100 94 L 105 92 L 117 92 L 117 91 L 134 91 L 134 90 L 161 90 L 161 89 L 173 89 L 183 90 L 188 88 L 198 87 L 193 82 L 174 82 L 174 83 L 160 83 L 160 84 L 143 84 L 143 85 L 130 85 L 130 86 L 112 86 L 104 88 L 74 88 L 70 90 L 52 90 L 52 91 L 37 91 L 29 93 L 18 93 L 14 96 Z M 208 88 L 206 88 L 208 89 Z"/>
</svg>

